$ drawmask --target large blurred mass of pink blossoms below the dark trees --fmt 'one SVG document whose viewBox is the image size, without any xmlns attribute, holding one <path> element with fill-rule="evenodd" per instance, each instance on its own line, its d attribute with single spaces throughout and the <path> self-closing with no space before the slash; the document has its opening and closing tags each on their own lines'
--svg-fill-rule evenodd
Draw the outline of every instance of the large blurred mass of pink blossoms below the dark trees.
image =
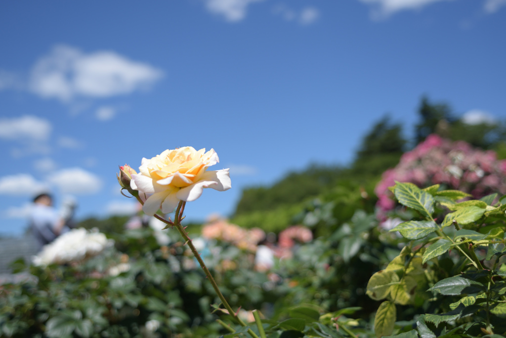
<svg viewBox="0 0 506 338">
<path fill-rule="evenodd" d="M 395 181 L 412 182 L 420 187 L 442 184 L 446 189 L 461 190 L 474 198 L 492 193 L 505 194 L 506 160 L 498 161 L 493 151 L 483 151 L 467 142 L 452 142 L 432 134 L 405 153 L 395 168 L 383 173 L 374 189 L 381 216 L 395 207 L 388 190 Z"/>
</svg>

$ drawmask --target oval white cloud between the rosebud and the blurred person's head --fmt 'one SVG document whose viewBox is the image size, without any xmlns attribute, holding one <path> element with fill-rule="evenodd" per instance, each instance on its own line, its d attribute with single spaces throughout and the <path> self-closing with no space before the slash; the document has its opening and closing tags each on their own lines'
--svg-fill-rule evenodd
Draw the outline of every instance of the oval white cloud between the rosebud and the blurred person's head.
<svg viewBox="0 0 506 338">
<path fill-rule="evenodd" d="M 102 180 L 81 168 L 59 170 L 50 175 L 48 181 L 58 186 L 62 194 L 88 195 L 102 189 Z"/>
</svg>

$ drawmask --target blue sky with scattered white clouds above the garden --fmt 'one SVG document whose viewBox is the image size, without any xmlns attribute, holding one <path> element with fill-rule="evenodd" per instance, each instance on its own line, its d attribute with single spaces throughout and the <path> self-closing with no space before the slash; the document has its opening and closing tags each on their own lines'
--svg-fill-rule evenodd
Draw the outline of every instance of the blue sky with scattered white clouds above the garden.
<svg viewBox="0 0 506 338">
<path fill-rule="evenodd" d="M 347 164 L 373 122 L 417 121 L 422 95 L 506 117 L 506 0 L 2 2 L 0 235 L 31 196 L 78 218 L 132 210 L 115 173 L 167 148 L 214 148 L 232 189 Z"/>
</svg>

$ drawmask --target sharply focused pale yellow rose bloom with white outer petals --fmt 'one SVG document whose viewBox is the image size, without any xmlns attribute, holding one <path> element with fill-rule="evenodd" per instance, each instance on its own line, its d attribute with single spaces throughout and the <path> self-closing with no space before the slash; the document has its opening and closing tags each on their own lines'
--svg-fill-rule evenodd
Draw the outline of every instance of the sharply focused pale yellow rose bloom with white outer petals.
<svg viewBox="0 0 506 338">
<path fill-rule="evenodd" d="M 132 174 L 130 186 L 146 194 L 143 210 L 154 215 L 158 210 L 169 213 L 179 201 L 195 201 L 204 188 L 230 189 L 229 169 L 206 171 L 220 162 L 214 149 L 207 153 L 193 147 L 167 149 L 151 160 L 142 159 L 139 174 Z"/>
</svg>

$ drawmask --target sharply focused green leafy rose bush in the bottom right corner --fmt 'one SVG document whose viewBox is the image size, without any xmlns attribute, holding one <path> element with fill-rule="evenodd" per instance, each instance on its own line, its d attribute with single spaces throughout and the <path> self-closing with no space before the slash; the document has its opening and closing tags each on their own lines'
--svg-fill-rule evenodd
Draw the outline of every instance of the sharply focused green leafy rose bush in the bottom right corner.
<svg viewBox="0 0 506 338">
<path fill-rule="evenodd" d="M 506 197 L 458 202 L 470 195 L 399 182 L 392 190 L 414 216 L 391 230 L 408 242 L 367 285 L 372 299 L 385 299 L 375 315 L 376 335 L 504 335 Z M 415 329 L 399 325 L 398 306 L 419 309 Z"/>
</svg>

